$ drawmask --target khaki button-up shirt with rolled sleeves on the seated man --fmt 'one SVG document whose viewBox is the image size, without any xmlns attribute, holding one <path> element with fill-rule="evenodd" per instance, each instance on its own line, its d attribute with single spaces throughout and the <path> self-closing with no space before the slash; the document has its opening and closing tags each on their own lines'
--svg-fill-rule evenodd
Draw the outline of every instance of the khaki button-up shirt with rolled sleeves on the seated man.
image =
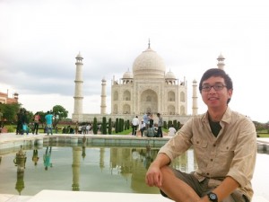
<svg viewBox="0 0 269 202">
<path fill-rule="evenodd" d="M 209 186 L 215 187 L 230 176 L 239 182 L 239 189 L 252 198 L 250 180 L 256 162 L 256 127 L 246 116 L 230 108 L 220 124 L 221 131 L 215 137 L 207 113 L 195 116 L 161 147 L 159 153 L 167 154 L 173 160 L 193 146 L 198 165 L 194 172 L 197 180 L 209 178 Z"/>
</svg>

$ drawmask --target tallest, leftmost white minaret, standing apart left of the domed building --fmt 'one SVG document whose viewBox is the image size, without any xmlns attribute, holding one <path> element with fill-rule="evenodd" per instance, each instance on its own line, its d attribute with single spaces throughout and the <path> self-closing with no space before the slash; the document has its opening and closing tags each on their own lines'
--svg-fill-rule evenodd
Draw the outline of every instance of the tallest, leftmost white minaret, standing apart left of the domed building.
<svg viewBox="0 0 269 202">
<path fill-rule="evenodd" d="M 76 58 L 76 71 L 74 80 L 74 120 L 82 121 L 82 55 L 79 53 Z"/>
</svg>

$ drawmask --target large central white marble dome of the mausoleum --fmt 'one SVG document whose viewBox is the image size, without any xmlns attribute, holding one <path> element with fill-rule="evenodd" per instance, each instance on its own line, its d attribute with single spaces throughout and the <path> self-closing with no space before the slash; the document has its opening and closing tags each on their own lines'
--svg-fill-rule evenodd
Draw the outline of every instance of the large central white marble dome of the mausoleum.
<svg viewBox="0 0 269 202">
<path fill-rule="evenodd" d="M 134 78 L 164 78 L 165 71 L 162 58 L 152 48 L 147 48 L 134 60 Z"/>
</svg>

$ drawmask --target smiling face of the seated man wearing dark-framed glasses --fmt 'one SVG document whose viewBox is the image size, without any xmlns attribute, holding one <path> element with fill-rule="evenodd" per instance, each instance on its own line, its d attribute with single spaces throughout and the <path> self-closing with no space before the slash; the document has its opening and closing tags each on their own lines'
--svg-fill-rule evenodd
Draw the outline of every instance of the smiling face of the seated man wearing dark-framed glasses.
<svg viewBox="0 0 269 202">
<path fill-rule="evenodd" d="M 201 94 L 208 108 L 226 108 L 232 90 L 226 88 L 223 78 L 212 76 L 202 83 Z"/>
</svg>

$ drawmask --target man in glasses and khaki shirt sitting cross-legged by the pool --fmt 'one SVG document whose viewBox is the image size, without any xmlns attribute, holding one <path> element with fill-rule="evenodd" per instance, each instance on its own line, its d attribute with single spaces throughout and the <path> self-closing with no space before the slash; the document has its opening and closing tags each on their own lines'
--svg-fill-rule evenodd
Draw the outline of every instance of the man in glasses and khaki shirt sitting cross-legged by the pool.
<svg viewBox="0 0 269 202">
<path fill-rule="evenodd" d="M 177 136 L 161 147 L 146 173 L 146 183 L 175 201 L 249 202 L 253 197 L 256 127 L 245 115 L 230 110 L 233 85 L 224 70 L 207 70 L 199 91 L 207 111 L 187 120 Z M 195 171 L 169 167 L 191 146 Z"/>
</svg>

